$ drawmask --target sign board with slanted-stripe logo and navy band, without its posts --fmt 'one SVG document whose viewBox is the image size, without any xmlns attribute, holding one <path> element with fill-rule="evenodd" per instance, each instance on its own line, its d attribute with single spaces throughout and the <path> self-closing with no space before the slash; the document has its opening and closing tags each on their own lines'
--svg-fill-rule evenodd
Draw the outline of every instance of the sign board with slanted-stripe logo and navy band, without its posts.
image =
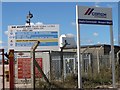
<svg viewBox="0 0 120 90">
<path fill-rule="evenodd" d="M 112 9 L 101 7 L 78 7 L 79 24 L 112 25 Z"/>
</svg>

